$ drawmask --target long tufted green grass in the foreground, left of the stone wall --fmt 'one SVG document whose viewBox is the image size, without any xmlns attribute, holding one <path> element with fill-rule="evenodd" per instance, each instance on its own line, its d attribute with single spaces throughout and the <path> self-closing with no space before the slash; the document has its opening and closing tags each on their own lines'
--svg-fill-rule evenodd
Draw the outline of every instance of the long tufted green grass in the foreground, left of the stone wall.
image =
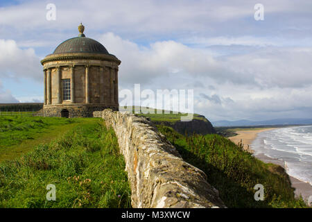
<svg viewBox="0 0 312 222">
<path fill-rule="evenodd" d="M 1 162 L 0 207 L 130 207 L 124 169 L 114 130 L 89 119 L 18 160 Z M 49 184 L 55 201 L 46 200 Z"/>
</svg>

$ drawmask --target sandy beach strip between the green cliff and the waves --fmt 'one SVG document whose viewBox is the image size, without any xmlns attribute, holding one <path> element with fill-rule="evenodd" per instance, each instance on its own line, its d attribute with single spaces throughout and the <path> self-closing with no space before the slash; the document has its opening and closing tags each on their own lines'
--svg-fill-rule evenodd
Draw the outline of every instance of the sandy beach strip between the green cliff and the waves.
<svg viewBox="0 0 312 222">
<path fill-rule="evenodd" d="M 228 137 L 228 139 L 230 139 L 232 142 L 234 142 L 234 144 L 238 144 L 239 142 L 243 142 L 243 149 L 245 151 L 248 151 L 249 153 L 254 153 L 254 151 L 252 150 L 252 141 L 254 141 L 254 139 L 256 139 L 257 134 L 261 133 L 263 131 L 266 130 L 274 130 L 275 128 L 263 128 L 263 129 L 247 129 L 247 130 L 236 130 L 234 131 L 235 133 L 237 133 L 238 135 L 234 136 L 234 137 Z M 248 146 L 249 145 L 249 146 Z M 274 159 L 272 157 L 268 157 L 266 156 L 264 153 L 260 153 L 259 155 L 255 155 L 255 157 L 257 157 L 257 159 L 266 162 L 266 163 L 272 163 L 272 164 L 277 164 L 281 167 L 283 167 L 285 169 L 285 172 L 287 173 L 287 167 L 285 165 L 285 162 L 282 160 L 278 160 L 278 159 Z M 288 173 L 287 173 L 288 174 Z M 297 178 L 294 178 L 293 176 L 289 176 L 289 179 L 291 180 L 291 186 L 293 188 L 295 188 L 295 197 L 299 197 L 300 194 L 302 195 L 302 198 L 304 200 L 309 199 L 309 196 L 312 196 L 312 186 L 310 185 L 309 182 L 305 182 L 302 180 L 299 180 Z"/>
</svg>

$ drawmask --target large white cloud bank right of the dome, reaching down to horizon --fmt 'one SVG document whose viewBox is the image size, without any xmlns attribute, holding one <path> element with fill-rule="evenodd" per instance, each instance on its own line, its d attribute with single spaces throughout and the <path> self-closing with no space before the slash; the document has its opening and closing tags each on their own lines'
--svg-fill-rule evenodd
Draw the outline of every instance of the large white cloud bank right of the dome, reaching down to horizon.
<svg viewBox="0 0 312 222">
<path fill-rule="evenodd" d="M 150 89 L 191 87 L 195 111 L 212 119 L 307 117 L 312 110 L 310 48 L 265 47 L 218 59 L 175 41 L 140 47 L 107 33 L 101 42 L 122 61 L 123 88 L 133 83 Z"/>
</svg>

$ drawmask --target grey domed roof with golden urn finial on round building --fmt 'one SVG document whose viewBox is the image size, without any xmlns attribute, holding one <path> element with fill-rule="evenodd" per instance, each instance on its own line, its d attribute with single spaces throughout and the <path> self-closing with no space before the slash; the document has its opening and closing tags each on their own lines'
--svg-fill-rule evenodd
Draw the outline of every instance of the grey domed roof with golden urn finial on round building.
<svg viewBox="0 0 312 222">
<path fill-rule="evenodd" d="M 80 34 L 78 37 L 73 37 L 69 40 L 62 42 L 53 52 L 53 54 L 60 53 L 101 53 L 110 55 L 107 49 L 96 40 L 92 40 L 89 37 L 85 37 L 83 31 L 85 30 L 85 26 L 80 24 L 78 26 L 78 30 Z"/>
</svg>

